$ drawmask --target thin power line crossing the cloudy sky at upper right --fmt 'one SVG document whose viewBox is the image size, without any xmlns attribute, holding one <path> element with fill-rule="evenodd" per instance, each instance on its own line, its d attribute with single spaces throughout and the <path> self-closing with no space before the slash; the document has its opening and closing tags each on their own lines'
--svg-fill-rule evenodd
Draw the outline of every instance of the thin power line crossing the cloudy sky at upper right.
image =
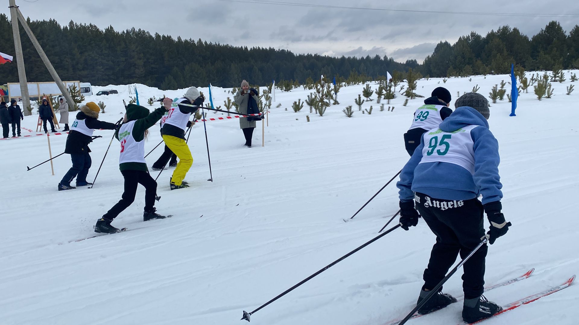
<svg viewBox="0 0 579 325">
<path fill-rule="evenodd" d="M 315 5 L 313 3 L 301 2 L 281 2 L 270 0 L 219 0 L 227 2 L 242 2 L 242 3 L 262 3 L 264 5 L 279 5 L 279 6 L 296 6 L 296 7 L 312 7 L 312 8 L 332 8 L 332 9 L 358 9 L 358 10 L 380 10 L 388 12 L 409 12 L 409 13 L 439 13 L 439 14 L 470 14 L 478 16 L 516 16 L 516 17 L 579 17 L 576 13 L 489 13 L 489 12 L 451 12 L 451 11 L 433 11 L 433 10 L 409 10 L 409 9 L 385 9 L 385 8 L 365 8 L 365 7 L 349 7 L 349 6 L 332 6 L 332 5 Z"/>
</svg>

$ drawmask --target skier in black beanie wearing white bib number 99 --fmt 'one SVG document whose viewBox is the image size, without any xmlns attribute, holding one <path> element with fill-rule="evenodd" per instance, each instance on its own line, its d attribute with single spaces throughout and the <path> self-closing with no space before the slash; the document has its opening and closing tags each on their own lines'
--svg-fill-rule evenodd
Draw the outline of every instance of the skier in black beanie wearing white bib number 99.
<svg viewBox="0 0 579 325">
<path fill-rule="evenodd" d="M 414 112 L 412 125 L 404 134 L 404 145 L 410 156 L 420 145 L 420 138 L 424 132 L 438 127 L 438 124 L 441 124 L 452 113 L 452 109 L 448 107 L 452 101 L 450 91 L 444 87 L 438 87 L 433 90 L 431 96 L 424 99 L 424 105 Z"/>
</svg>

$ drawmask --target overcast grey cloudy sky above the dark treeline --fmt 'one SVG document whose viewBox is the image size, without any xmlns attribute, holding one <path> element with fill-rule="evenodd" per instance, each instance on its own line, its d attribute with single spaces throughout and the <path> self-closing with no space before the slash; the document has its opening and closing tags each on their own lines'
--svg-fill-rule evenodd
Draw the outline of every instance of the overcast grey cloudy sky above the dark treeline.
<svg viewBox="0 0 579 325">
<path fill-rule="evenodd" d="M 34 0 L 28 0 L 34 1 Z M 422 62 L 440 40 L 456 42 L 471 31 L 486 35 L 501 25 L 518 27 L 534 35 L 551 20 L 569 33 L 579 17 L 512 17 L 467 14 L 391 12 L 307 6 L 271 5 L 258 0 L 16 0 L 32 20 L 53 18 L 61 25 L 70 20 L 93 23 L 104 29 L 131 27 L 175 38 L 203 39 L 235 46 L 263 46 L 294 53 L 331 56 L 387 55 L 397 61 Z M 261 2 L 261 3 L 260 3 Z M 277 0 L 283 3 L 355 6 L 485 13 L 579 14 L 579 1 L 463 1 L 463 0 Z M 8 4 L 7 0 L 2 3 Z M 8 6 L 1 12 L 9 15 Z M 42 38 L 42 35 L 36 35 Z M 11 53 L 5 49 L 6 53 Z"/>
</svg>

